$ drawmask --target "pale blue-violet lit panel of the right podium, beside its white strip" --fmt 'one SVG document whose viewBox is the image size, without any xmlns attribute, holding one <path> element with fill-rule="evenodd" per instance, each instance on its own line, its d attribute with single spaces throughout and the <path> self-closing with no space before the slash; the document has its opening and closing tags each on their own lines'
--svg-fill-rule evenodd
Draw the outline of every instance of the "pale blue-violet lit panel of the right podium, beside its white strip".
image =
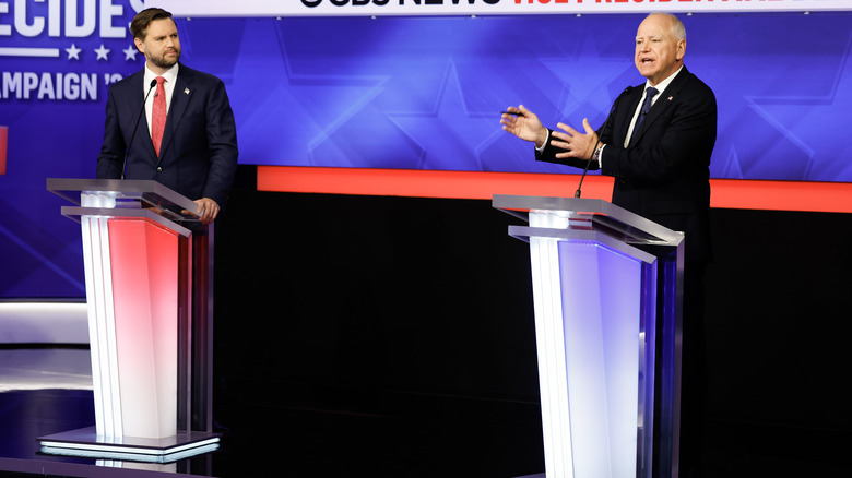
<svg viewBox="0 0 852 478">
<path fill-rule="evenodd" d="M 641 264 L 559 242 L 572 453 L 578 477 L 635 477 Z"/>
</svg>

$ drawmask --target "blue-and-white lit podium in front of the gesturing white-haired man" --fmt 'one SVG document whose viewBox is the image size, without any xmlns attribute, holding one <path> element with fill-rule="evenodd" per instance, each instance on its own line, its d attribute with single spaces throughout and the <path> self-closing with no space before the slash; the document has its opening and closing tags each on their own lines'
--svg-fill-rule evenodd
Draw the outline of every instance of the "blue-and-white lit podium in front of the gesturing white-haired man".
<svg viewBox="0 0 852 478">
<path fill-rule="evenodd" d="M 546 477 L 677 477 L 684 234 L 602 200 L 493 206 L 528 223 Z"/>
</svg>

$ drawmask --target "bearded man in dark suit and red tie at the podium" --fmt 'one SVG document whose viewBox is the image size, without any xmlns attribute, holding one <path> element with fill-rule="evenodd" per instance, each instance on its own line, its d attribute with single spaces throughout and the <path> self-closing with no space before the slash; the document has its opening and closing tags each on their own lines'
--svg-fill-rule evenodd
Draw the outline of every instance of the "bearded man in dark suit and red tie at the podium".
<svg viewBox="0 0 852 478">
<path fill-rule="evenodd" d="M 171 13 L 145 9 L 130 31 L 145 68 L 109 88 L 97 177 L 125 177 L 127 154 L 128 179 L 153 179 L 193 200 L 201 223 L 210 224 L 237 168 L 236 126 L 225 85 L 179 63 Z"/>
</svg>

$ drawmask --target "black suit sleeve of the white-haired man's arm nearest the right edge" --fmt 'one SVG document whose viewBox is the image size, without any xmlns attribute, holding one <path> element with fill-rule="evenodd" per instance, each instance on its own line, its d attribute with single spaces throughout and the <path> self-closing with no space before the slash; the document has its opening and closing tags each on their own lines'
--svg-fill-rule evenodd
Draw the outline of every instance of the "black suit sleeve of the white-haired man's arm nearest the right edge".
<svg viewBox="0 0 852 478">
<path fill-rule="evenodd" d="M 663 98 L 661 98 L 663 100 Z M 684 91 L 663 116 L 628 148 L 604 133 L 603 169 L 606 176 L 636 186 L 654 186 L 706 169 L 715 143 L 715 97 L 703 84 Z"/>
</svg>

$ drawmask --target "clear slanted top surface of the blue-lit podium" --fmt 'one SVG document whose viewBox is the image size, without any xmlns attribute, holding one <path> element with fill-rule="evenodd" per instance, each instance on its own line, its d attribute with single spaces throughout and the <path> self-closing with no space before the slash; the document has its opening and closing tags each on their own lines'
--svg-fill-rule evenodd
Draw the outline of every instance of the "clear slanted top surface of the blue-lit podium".
<svg viewBox="0 0 852 478">
<path fill-rule="evenodd" d="M 530 213 L 552 213 L 568 219 L 570 228 L 592 229 L 637 244 L 677 247 L 684 234 L 597 199 L 495 194 L 495 208 L 529 222 Z"/>
</svg>

